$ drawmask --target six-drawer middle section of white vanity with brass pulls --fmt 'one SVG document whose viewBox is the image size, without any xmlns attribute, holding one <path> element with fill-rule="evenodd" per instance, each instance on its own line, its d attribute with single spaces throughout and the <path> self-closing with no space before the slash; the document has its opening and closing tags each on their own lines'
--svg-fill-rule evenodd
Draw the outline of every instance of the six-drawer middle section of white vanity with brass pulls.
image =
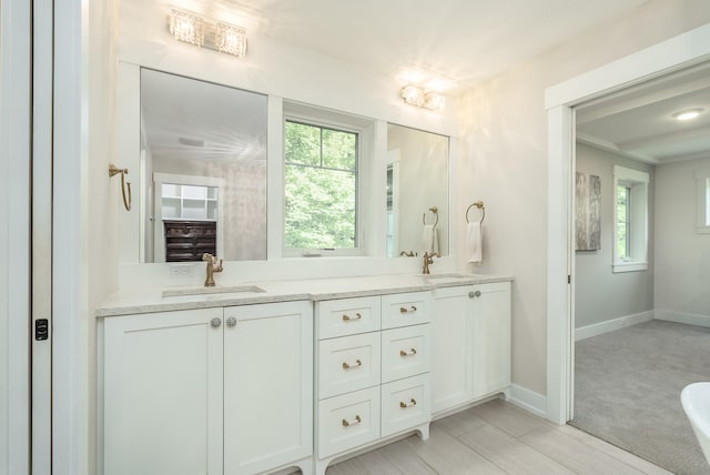
<svg viewBox="0 0 710 475">
<path fill-rule="evenodd" d="M 383 437 L 428 436 L 430 292 L 321 301 L 316 473 Z"/>
</svg>

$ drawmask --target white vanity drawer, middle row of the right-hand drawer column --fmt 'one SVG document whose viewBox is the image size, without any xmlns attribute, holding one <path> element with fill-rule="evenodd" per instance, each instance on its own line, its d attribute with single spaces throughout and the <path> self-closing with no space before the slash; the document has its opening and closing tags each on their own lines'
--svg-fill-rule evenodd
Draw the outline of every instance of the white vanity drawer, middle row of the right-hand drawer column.
<svg viewBox="0 0 710 475">
<path fill-rule="evenodd" d="M 432 325 L 382 332 L 382 382 L 427 373 L 432 361 Z"/>
</svg>

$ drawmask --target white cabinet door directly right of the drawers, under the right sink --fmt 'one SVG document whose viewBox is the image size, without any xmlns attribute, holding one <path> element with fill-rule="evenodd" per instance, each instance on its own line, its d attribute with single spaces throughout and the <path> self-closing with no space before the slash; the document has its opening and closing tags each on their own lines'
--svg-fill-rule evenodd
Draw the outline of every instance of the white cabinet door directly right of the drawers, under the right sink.
<svg viewBox="0 0 710 475">
<path fill-rule="evenodd" d="M 433 412 L 471 400 L 473 303 L 471 286 L 434 291 L 432 312 Z"/>
</svg>

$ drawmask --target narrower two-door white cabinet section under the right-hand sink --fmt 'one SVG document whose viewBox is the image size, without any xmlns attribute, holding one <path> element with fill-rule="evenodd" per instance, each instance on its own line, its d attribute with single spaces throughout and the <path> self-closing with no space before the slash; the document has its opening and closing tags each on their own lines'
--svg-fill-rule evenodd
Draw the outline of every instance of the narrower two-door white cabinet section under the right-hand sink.
<svg viewBox="0 0 710 475">
<path fill-rule="evenodd" d="M 433 412 L 510 386 L 510 282 L 434 291 Z"/>
</svg>

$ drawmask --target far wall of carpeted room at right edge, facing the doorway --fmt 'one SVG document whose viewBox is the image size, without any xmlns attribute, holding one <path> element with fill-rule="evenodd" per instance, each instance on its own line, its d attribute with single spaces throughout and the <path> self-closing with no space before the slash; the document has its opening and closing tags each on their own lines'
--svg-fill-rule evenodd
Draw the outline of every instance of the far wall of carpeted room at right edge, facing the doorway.
<svg viewBox="0 0 710 475">
<path fill-rule="evenodd" d="M 710 325 L 710 234 L 696 233 L 693 172 L 710 156 L 656 170 L 656 311 L 694 315 Z"/>
</svg>

